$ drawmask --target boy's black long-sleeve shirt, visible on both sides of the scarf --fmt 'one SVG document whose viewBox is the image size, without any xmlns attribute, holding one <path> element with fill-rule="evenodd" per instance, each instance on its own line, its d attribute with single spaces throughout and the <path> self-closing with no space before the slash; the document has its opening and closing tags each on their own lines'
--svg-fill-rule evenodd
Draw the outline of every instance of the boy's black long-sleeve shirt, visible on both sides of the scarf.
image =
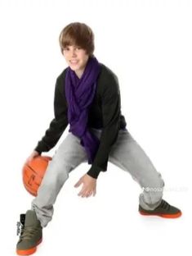
<svg viewBox="0 0 192 256">
<path fill-rule="evenodd" d="M 66 69 L 56 79 L 54 114 L 45 135 L 34 150 L 38 153 L 52 149 L 69 124 L 67 117 L 68 103 L 65 98 Z M 118 77 L 109 67 L 101 63 L 100 75 L 97 78 L 96 94 L 88 112 L 88 127 L 101 130 L 100 145 L 92 167 L 87 171 L 89 176 L 97 178 L 100 171 L 107 171 L 109 151 L 118 138 L 118 130 L 127 126 L 121 114 L 121 98 Z"/>
</svg>

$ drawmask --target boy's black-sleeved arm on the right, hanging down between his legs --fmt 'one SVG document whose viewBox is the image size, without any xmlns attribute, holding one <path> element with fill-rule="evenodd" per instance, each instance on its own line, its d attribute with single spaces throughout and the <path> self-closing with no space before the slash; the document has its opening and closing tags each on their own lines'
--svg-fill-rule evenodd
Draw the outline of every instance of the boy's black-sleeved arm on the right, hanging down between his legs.
<svg viewBox="0 0 192 256">
<path fill-rule="evenodd" d="M 92 167 L 87 171 L 87 174 L 95 179 L 100 171 L 107 170 L 109 151 L 118 138 L 121 99 L 117 76 L 113 75 L 110 77 L 108 84 L 104 85 L 101 107 L 103 129 L 100 135 L 100 146 L 92 163 Z"/>
</svg>

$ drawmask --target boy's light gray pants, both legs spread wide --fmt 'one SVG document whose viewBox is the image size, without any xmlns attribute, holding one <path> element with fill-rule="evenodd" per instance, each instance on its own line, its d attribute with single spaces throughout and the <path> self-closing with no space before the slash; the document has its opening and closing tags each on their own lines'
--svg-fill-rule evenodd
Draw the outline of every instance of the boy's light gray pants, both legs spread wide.
<svg viewBox="0 0 192 256">
<path fill-rule="evenodd" d="M 92 132 L 100 139 L 101 130 L 92 129 Z M 43 227 L 51 221 L 53 204 L 69 178 L 69 172 L 82 162 L 87 162 L 87 154 L 80 144 L 80 139 L 69 132 L 49 162 L 38 195 L 32 201 L 32 209 Z M 153 210 L 159 205 L 163 197 L 163 179 L 128 130 L 119 130 L 118 139 L 109 153 L 109 162 L 129 172 L 141 185 L 143 191 L 139 203 L 142 208 Z"/>
</svg>

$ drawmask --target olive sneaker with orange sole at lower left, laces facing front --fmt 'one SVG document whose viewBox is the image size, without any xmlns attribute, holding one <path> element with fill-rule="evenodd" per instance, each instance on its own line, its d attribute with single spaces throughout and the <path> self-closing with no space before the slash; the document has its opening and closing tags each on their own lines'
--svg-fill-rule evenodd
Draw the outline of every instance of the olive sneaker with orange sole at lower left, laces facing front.
<svg viewBox="0 0 192 256">
<path fill-rule="evenodd" d="M 20 222 L 17 222 L 17 235 L 20 235 L 20 240 L 16 245 L 16 254 L 33 254 L 37 245 L 42 242 L 42 226 L 33 210 L 20 214 Z"/>
</svg>

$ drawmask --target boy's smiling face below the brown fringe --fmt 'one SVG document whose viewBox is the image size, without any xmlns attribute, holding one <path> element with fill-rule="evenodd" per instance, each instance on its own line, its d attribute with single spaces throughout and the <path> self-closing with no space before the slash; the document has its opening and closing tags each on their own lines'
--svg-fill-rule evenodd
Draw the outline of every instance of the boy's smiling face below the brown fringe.
<svg viewBox="0 0 192 256">
<path fill-rule="evenodd" d="M 80 78 L 89 58 L 86 51 L 78 46 L 69 45 L 64 48 L 63 55 L 67 64 Z"/>
</svg>

